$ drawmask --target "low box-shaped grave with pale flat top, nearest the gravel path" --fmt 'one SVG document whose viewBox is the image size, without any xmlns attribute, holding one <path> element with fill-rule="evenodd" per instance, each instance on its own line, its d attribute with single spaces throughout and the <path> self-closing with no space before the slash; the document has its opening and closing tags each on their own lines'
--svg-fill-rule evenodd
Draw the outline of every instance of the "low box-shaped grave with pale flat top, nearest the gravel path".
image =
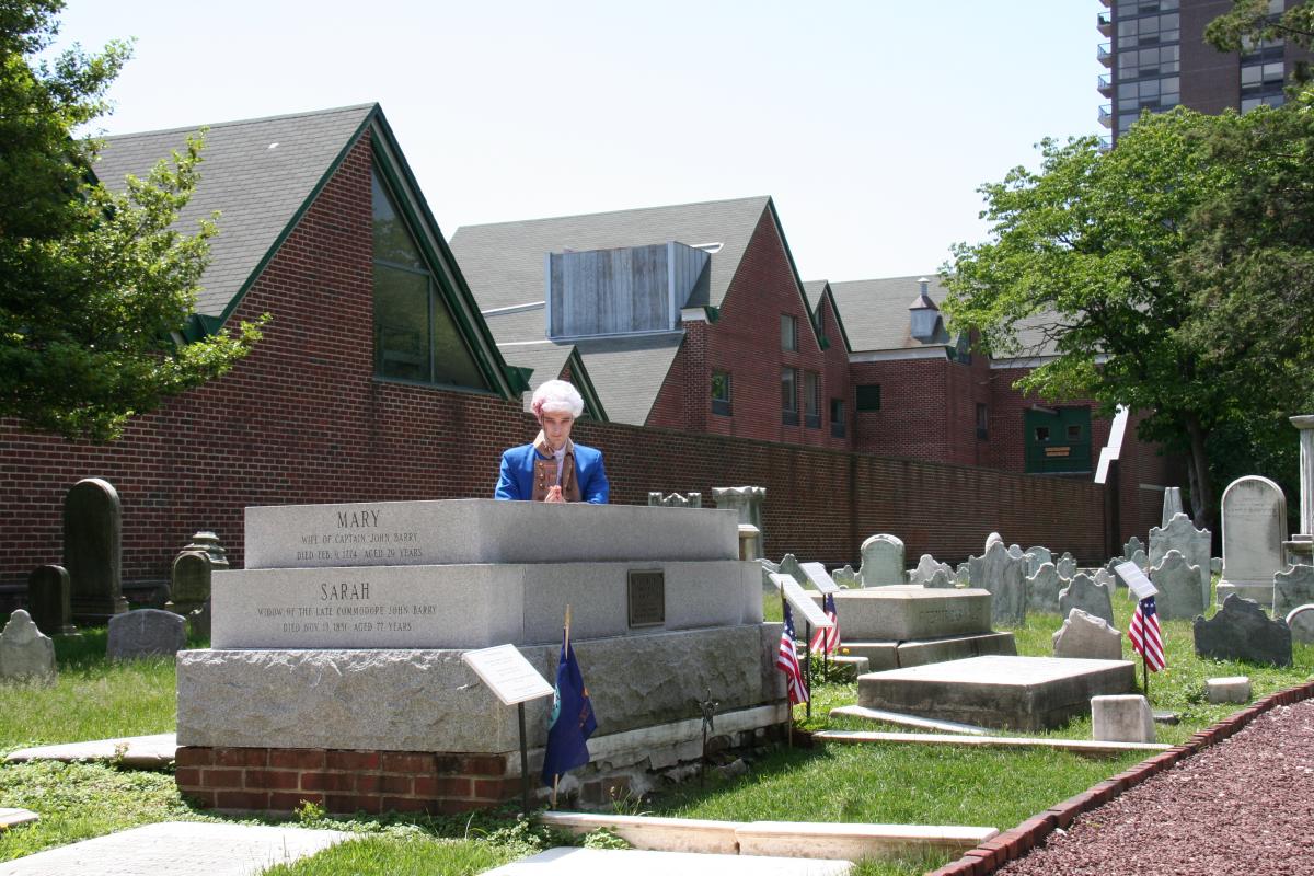
<svg viewBox="0 0 1314 876">
<path fill-rule="evenodd" d="M 1130 661 L 1060 657 L 972 657 L 869 672 L 858 704 L 872 709 L 1014 730 L 1062 726 L 1091 709 L 1091 697 L 1129 693 Z"/>
</svg>

